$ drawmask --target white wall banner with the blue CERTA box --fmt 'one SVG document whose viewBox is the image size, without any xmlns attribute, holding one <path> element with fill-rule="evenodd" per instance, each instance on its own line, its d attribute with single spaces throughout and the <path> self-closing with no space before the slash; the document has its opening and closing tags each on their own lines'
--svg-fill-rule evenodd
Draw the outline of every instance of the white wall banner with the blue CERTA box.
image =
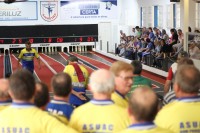
<svg viewBox="0 0 200 133">
<path fill-rule="evenodd" d="M 117 0 L 60 1 L 61 19 L 117 19 Z"/>
</svg>

